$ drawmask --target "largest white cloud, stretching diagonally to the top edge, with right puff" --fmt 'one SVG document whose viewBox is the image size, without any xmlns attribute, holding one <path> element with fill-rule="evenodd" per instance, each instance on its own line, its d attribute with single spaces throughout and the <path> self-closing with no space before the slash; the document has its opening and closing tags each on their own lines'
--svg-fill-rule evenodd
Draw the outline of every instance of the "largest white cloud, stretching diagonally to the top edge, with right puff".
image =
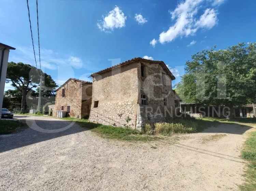
<svg viewBox="0 0 256 191">
<path fill-rule="evenodd" d="M 171 11 L 171 18 L 175 21 L 167 31 L 159 35 L 159 42 L 171 42 L 177 37 L 187 37 L 194 35 L 200 28 L 211 29 L 217 24 L 217 13 L 213 8 L 207 8 L 198 18 L 198 10 L 205 2 L 213 0 L 185 0 L 177 5 L 174 11 Z M 209 4 L 209 3 L 208 3 Z"/>
</svg>

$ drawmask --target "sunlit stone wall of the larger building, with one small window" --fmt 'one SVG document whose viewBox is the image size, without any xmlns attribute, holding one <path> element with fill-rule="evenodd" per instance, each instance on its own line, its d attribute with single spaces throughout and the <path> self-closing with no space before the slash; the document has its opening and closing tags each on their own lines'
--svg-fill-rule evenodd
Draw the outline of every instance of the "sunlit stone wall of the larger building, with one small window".
<svg viewBox="0 0 256 191">
<path fill-rule="evenodd" d="M 138 103 L 137 63 L 114 68 L 93 79 L 89 121 L 105 125 L 136 126 Z M 98 107 L 94 103 L 98 101 Z"/>
</svg>

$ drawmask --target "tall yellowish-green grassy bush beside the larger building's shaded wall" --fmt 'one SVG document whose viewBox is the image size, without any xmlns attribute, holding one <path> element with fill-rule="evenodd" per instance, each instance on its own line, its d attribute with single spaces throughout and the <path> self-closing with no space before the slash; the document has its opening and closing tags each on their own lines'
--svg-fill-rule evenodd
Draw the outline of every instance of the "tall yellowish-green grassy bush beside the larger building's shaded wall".
<svg viewBox="0 0 256 191">
<path fill-rule="evenodd" d="M 156 133 L 171 135 L 173 133 L 194 133 L 196 128 L 182 123 L 155 123 Z"/>
</svg>

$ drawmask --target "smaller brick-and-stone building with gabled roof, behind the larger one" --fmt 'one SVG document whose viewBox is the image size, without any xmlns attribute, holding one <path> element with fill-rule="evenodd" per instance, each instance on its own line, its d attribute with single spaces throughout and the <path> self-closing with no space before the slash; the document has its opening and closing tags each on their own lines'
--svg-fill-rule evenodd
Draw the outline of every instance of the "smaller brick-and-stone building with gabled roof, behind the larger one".
<svg viewBox="0 0 256 191">
<path fill-rule="evenodd" d="M 75 118 L 85 118 L 90 114 L 92 83 L 70 78 L 56 91 L 53 116 L 57 111 L 67 111 L 67 115 Z"/>
</svg>

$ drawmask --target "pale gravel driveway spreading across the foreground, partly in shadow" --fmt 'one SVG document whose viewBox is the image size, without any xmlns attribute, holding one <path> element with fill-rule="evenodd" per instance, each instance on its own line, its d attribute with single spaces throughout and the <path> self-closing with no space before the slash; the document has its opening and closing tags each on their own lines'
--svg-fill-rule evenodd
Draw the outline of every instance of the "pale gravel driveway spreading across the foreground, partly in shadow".
<svg viewBox="0 0 256 191">
<path fill-rule="evenodd" d="M 47 131 L 71 124 L 16 117 Z M 149 143 L 106 140 L 76 124 L 55 133 L 28 128 L 0 136 L 0 190 L 238 190 L 250 128 L 225 124 Z"/>
</svg>

